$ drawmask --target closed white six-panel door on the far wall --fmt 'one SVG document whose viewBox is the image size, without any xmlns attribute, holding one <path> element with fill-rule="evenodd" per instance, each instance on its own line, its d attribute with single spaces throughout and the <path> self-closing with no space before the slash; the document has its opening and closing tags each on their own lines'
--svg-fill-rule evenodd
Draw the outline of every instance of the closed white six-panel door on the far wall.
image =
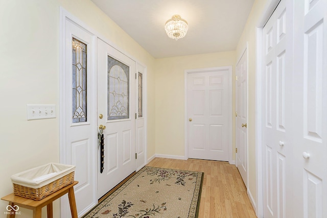
<svg viewBox="0 0 327 218">
<path fill-rule="evenodd" d="M 188 73 L 188 156 L 228 161 L 231 119 L 231 69 Z"/>
</svg>

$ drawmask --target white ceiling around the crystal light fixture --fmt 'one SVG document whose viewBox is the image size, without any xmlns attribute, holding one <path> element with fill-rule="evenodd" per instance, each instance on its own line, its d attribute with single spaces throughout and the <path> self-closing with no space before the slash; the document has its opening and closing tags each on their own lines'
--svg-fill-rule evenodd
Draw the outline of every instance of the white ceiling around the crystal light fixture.
<svg viewBox="0 0 327 218">
<path fill-rule="evenodd" d="M 254 0 L 91 0 L 154 58 L 236 50 Z M 174 14 L 188 21 L 179 40 L 165 32 Z"/>
</svg>

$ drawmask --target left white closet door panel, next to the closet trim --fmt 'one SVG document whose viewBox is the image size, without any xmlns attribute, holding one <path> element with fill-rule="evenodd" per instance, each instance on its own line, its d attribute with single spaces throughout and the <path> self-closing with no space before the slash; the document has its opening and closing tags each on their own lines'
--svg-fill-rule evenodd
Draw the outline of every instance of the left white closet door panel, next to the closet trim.
<svg viewBox="0 0 327 218">
<path fill-rule="evenodd" d="M 292 13 L 282 0 L 263 29 L 264 217 L 292 217 Z"/>
</svg>

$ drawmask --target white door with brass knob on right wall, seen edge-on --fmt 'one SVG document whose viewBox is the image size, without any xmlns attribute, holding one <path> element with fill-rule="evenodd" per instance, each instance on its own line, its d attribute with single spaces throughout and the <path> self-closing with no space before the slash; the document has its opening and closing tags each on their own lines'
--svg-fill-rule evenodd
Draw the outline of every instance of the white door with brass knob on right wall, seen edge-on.
<svg viewBox="0 0 327 218">
<path fill-rule="evenodd" d="M 236 166 L 247 186 L 247 50 L 236 66 Z"/>
</svg>

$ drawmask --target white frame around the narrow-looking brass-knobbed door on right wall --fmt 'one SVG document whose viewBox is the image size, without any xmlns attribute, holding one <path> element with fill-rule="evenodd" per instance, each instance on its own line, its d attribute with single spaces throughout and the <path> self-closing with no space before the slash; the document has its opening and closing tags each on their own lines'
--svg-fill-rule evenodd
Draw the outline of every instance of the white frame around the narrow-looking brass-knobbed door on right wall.
<svg viewBox="0 0 327 218">
<path fill-rule="evenodd" d="M 246 55 L 246 123 L 248 123 L 248 117 L 249 117 L 249 104 L 248 104 L 248 99 L 249 99 L 249 86 L 248 86 L 248 81 L 249 81 L 249 74 L 248 74 L 248 68 L 249 68 L 249 52 L 248 52 L 248 42 L 246 42 L 245 48 L 242 50 L 242 53 L 240 55 L 240 57 L 237 59 L 236 62 L 236 68 L 235 68 L 235 74 L 237 74 L 237 66 L 240 63 L 243 55 Z M 236 75 L 238 76 L 238 75 Z M 238 93 L 238 89 L 237 89 L 237 80 L 235 81 L 235 109 L 237 110 L 238 108 L 236 108 L 237 106 L 237 93 Z M 237 118 L 235 118 L 235 148 L 238 148 L 238 143 L 237 143 Z M 248 131 L 246 131 L 246 187 L 248 189 L 249 187 L 249 168 L 248 168 L 248 163 L 249 163 L 249 137 L 248 137 Z M 238 167 L 238 162 L 237 162 L 237 156 L 238 153 L 236 153 L 236 157 L 235 157 L 235 164 L 236 167 Z M 243 181 L 244 182 L 244 181 Z M 248 191 L 248 190 L 247 190 Z"/>
</svg>

